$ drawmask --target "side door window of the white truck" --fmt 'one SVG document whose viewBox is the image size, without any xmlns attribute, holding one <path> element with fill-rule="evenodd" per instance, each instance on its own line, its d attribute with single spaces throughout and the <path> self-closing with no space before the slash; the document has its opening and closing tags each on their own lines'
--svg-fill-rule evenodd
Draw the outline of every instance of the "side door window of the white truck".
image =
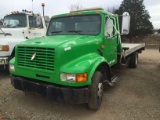
<svg viewBox="0 0 160 120">
<path fill-rule="evenodd" d="M 41 23 L 40 26 L 37 26 L 36 24 L 36 16 L 29 16 L 29 27 L 30 28 L 43 28 L 43 25 Z"/>
</svg>

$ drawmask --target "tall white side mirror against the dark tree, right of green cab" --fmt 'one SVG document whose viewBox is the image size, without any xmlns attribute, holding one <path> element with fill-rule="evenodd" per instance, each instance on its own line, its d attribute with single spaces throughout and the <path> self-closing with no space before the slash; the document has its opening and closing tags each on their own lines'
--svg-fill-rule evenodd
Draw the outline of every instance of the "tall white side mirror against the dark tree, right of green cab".
<svg viewBox="0 0 160 120">
<path fill-rule="evenodd" d="M 128 12 L 124 12 L 122 15 L 122 35 L 127 35 L 130 29 L 130 15 Z"/>
</svg>

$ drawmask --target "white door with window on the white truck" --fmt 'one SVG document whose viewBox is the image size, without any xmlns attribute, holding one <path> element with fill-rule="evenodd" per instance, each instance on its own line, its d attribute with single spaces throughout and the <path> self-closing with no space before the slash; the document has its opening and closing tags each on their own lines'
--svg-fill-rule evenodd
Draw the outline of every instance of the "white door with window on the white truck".
<svg viewBox="0 0 160 120">
<path fill-rule="evenodd" d="M 29 16 L 28 19 L 29 19 L 29 39 L 45 36 L 46 29 L 45 26 L 42 24 L 42 22 L 40 26 L 37 26 L 36 16 Z"/>
</svg>

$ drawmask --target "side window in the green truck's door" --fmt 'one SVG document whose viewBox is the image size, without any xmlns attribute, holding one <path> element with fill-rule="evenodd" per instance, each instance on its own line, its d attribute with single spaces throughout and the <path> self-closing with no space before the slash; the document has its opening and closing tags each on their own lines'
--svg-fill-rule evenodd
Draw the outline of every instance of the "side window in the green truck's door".
<svg viewBox="0 0 160 120">
<path fill-rule="evenodd" d="M 105 36 L 112 37 L 114 33 L 114 22 L 112 19 L 107 18 L 105 23 Z"/>
</svg>

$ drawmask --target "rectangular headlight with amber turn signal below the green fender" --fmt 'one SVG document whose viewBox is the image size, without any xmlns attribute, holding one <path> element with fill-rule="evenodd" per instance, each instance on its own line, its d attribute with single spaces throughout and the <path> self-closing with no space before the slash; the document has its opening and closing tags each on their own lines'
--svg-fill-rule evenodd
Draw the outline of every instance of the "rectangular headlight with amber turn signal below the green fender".
<svg viewBox="0 0 160 120">
<path fill-rule="evenodd" d="M 86 82 L 88 80 L 88 74 L 87 73 L 82 73 L 82 74 L 61 73 L 60 78 L 62 81 L 68 81 L 68 82 Z"/>
</svg>

